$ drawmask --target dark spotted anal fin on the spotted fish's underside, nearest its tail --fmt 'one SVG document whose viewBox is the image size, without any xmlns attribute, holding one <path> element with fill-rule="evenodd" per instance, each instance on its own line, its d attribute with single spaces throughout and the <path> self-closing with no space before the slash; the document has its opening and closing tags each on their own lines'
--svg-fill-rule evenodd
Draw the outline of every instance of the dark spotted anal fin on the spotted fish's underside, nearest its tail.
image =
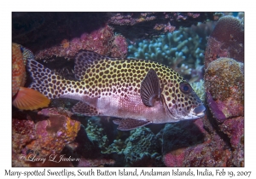
<svg viewBox="0 0 256 179">
<path fill-rule="evenodd" d="M 97 116 L 100 113 L 98 113 L 96 107 L 91 107 L 88 104 L 85 104 L 82 101 L 79 101 L 77 104 L 75 104 L 72 107 L 73 113 L 80 113 L 84 114 L 85 116 Z"/>
</svg>

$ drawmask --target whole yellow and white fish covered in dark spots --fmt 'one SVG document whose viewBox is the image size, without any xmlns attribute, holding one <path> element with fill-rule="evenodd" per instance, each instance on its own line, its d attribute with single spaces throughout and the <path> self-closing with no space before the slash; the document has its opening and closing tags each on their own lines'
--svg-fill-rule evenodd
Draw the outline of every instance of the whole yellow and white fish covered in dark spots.
<svg viewBox="0 0 256 179">
<path fill-rule="evenodd" d="M 80 50 L 74 57 L 75 80 L 38 61 L 28 61 L 32 84 L 42 94 L 78 100 L 73 113 L 114 117 L 118 130 L 204 116 L 206 107 L 190 84 L 155 61 L 119 59 Z"/>
</svg>

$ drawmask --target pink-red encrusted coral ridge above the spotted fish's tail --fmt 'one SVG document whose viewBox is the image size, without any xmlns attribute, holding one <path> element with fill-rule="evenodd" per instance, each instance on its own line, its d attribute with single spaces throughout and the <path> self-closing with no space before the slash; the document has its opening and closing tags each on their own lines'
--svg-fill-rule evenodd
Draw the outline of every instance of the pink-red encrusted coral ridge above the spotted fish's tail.
<svg viewBox="0 0 256 179">
<path fill-rule="evenodd" d="M 80 49 L 87 49 L 111 57 L 125 57 L 127 43 L 121 35 L 113 35 L 112 27 L 104 26 L 96 31 L 83 33 L 80 38 L 73 38 L 70 41 L 63 39 L 59 45 L 39 50 L 35 57 L 36 59 L 49 59 L 55 55 L 73 58 Z"/>
</svg>

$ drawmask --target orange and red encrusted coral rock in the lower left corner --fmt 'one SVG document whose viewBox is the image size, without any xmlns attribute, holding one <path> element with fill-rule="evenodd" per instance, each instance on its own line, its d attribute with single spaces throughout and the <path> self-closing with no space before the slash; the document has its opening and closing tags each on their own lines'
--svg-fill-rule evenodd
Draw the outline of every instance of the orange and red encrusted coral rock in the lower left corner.
<svg viewBox="0 0 256 179">
<path fill-rule="evenodd" d="M 20 155 L 47 158 L 59 154 L 67 143 L 73 141 L 80 129 L 79 121 L 58 113 L 56 108 L 47 108 L 38 112 L 37 121 L 13 118 L 13 165 L 32 165 L 32 162 L 20 160 Z M 47 119 L 45 119 L 47 118 Z"/>
</svg>

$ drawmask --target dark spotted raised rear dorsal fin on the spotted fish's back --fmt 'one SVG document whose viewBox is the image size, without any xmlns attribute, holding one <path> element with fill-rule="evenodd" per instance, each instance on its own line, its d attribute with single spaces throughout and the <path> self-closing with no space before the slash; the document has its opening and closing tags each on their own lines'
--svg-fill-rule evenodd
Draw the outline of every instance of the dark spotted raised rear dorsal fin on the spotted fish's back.
<svg viewBox="0 0 256 179">
<path fill-rule="evenodd" d="M 74 73 L 75 78 L 78 80 L 83 80 L 85 71 L 90 68 L 90 66 L 94 63 L 94 61 L 99 61 L 102 59 L 111 59 L 107 56 L 99 55 L 95 52 L 88 51 L 88 50 L 81 50 L 78 54 L 74 57 Z"/>
</svg>

